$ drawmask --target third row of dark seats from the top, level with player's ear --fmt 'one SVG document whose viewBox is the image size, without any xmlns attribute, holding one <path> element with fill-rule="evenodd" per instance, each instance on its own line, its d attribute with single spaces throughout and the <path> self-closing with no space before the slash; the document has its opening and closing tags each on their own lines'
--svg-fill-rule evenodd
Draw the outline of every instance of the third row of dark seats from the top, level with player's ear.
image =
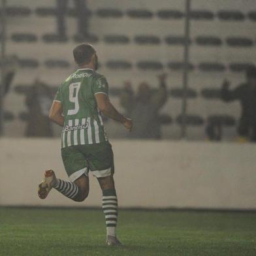
<svg viewBox="0 0 256 256">
<path fill-rule="evenodd" d="M 36 69 L 37 67 L 44 65 L 49 69 L 65 69 L 71 67 L 71 63 L 64 59 L 47 59 L 44 63 L 40 63 L 37 59 L 19 59 L 19 65 L 21 68 L 30 68 Z M 184 69 L 184 63 L 182 61 L 170 61 L 166 65 L 161 63 L 160 61 L 138 61 L 136 65 L 133 65 L 130 61 L 126 60 L 110 60 L 106 61 L 106 63 L 99 63 L 99 67 L 106 67 L 108 69 L 114 70 L 129 70 L 133 67 L 136 67 L 140 70 L 155 70 L 160 71 L 165 67 L 172 71 L 182 71 Z M 242 72 L 251 67 L 253 63 L 228 63 L 225 65 L 224 63 L 219 62 L 202 62 L 198 65 L 194 63 L 189 63 L 188 69 L 189 71 L 195 71 L 196 69 L 201 72 L 223 72 L 229 69 L 232 72 Z"/>
</svg>

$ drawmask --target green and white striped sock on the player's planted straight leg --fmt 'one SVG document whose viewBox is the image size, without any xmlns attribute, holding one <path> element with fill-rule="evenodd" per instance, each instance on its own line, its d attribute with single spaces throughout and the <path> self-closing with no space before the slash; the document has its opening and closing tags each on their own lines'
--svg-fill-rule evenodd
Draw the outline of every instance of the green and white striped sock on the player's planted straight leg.
<svg viewBox="0 0 256 256">
<path fill-rule="evenodd" d="M 116 223 L 118 222 L 118 198 L 115 189 L 103 191 L 103 212 L 106 219 L 106 234 L 116 236 Z"/>
</svg>

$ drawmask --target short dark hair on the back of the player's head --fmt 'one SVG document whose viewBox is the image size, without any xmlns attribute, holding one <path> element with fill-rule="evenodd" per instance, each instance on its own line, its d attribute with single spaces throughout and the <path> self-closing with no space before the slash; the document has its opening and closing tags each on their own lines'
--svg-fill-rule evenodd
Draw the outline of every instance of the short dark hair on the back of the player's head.
<svg viewBox="0 0 256 256">
<path fill-rule="evenodd" d="M 73 50 L 74 61 L 76 61 L 78 65 L 88 64 L 95 52 L 96 51 L 91 44 L 79 44 Z"/>
</svg>

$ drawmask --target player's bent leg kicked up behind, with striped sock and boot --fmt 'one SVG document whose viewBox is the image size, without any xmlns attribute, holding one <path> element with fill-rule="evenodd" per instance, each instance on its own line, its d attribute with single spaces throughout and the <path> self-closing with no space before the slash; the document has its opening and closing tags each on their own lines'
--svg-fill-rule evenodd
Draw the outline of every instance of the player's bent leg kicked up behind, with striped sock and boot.
<svg viewBox="0 0 256 256">
<path fill-rule="evenodd" d="M 40 199 L 45 199 L 52 187 L 65 195 L 65 197 L 76 202 L 82 202 L 88 197 L 89 178 L 83 174 L 74 182 L 66 182 L 57 179 L 53 170 L 46 170 L 44 172 L 44 180 L 39 184 L 38 195 Z"/>
</svg>

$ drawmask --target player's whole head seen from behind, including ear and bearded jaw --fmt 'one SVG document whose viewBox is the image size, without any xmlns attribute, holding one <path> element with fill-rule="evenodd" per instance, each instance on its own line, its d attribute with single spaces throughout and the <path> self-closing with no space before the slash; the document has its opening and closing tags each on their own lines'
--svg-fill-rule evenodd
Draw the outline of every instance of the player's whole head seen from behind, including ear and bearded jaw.
<svg viewBox="0 0 256 256">
<path fill-rule="evenodd" d="M 91 44 L 84 43 L 79 44 L 73 50 L 74 61 L 78 66 L 84 66 L 92 64 L 94 69 L 98 69 L 98 57 L 95 49 Z"/>
</svg>

